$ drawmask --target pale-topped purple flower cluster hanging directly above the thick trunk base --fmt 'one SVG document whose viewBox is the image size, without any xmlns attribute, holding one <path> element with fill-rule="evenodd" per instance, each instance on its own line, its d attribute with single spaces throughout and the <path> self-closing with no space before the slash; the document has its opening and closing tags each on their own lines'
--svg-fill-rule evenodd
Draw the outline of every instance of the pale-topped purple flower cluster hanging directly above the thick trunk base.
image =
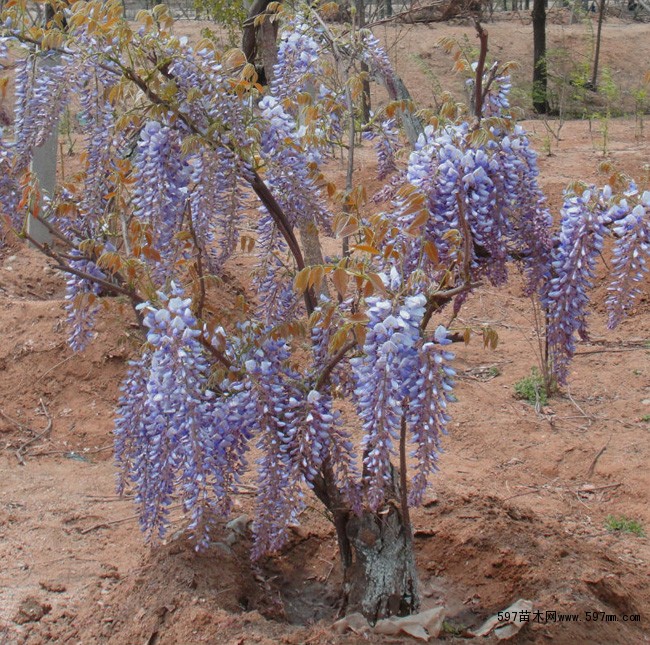
<svg viewBox="0 0 650 645">
<path fill-rule="evenodd" d="M 389 280 L 399 282 L 394 270 Z M 364 355 L 352 359 L 351 365 L 365 432 L 362 483 L 369 508 L 376 510 L 392 485 L 391 461 L 402 424 L 416 444 L 418 475 L 412 500 L 421 499 L 428 475 L 435 470 L 438 438 L 449 420 L 445 408 L 454 372 L 446 364 L 453 355 L 441 351 L 444 328 L 436 331 L 434 340 L 421 341 L 424 296 L 406 296 L 403 301 L 371 297 L 366 302 Z"/>
</svg>

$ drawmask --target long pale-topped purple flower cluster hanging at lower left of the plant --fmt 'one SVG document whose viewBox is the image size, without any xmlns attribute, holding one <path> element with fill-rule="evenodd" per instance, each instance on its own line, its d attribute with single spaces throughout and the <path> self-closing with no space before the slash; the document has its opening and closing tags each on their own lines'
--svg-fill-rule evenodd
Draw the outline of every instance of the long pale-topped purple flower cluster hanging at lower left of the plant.
<svg viewBox="0 0 650 645">
<path fill-rule="evenodd" d="M 227 491 L 224 419 L 208 388 L 210 365 L 197 337 L 191 299 L 172 285 L 161 306 L 141 305 L 148 330 L 142 358 L 131 364 L 122 386 L 115 427 L 115 454 L 140 507 L 149 539 L 164 536 L 169 506 L 178 494 L 191 518 L 189 529 L 205 544 L 216 500 Z"/>
</svg>

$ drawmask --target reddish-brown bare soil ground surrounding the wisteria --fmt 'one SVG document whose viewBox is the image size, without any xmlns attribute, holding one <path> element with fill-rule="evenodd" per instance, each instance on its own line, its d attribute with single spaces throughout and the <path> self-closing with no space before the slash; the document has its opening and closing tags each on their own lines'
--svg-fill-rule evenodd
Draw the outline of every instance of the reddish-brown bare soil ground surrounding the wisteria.
<svg viewBox="0 0 650 645">
<path fill-rule="evenodd" d="M 438 36 L 463 29 L 471 38 L 469 28 L 436 26 L 429 44 L 424 27 L 404 42 L 435 58 Z M 528 52 L 530 39 L 518 33 L 524 26 L 490 29 L 511 33 L 511 45 L 522 57 Z M 647 29 L 607 29 L 608 64 L 626 65 L 623 52 L 634 41 L 638 73 L 638 61 L 650 60 Z M 526 126 L 541 146 L 543 123 Z M 638 176 L 650 161 L 638 123 L 607 128 L 607 158 Z M 599 180 L 603 148 L 589 122 L 564 124 L 553 156 L 540 159 L 554 207 L 568 181 Z M 372 186 L 372 155 L 359 159 L 360 177 Z M 233 262 L 233 293 L 246 285 L 249 261 Z M 500 342 L 494 351 L 480 339 L 455 347 L 459 401 L 440 473 L 413 517 L 424 603 L 446 606 L 446 641 L 463 640 L 454 631 L 526 598 L 542 612 L 581 619 L 531 623 L 513 642 L 650 642 L 650 542 L 605 525 L 609 515 L 626 516 L 650 531 L 650 291 L 646 284 L 634 315 L 607 332 L 604 275 L 598 284 L 592 339 L 579 344 L 570 388 L 539 410 L 513 396 L 536 362 L 532 309 L 517 279 L 481 289 L 462 311 L 462 322 L 491 326 Z M 222 527 L 200 555 L 173 532 L 153 550 L 142 544 L 132 500 L 115 495 L 111 457 L 118 386 L 137 346 L 129 312 L 107 300 L 97 340 L 73 356 L 64 286 L 37 253 L 3 251 L 0 643 L 366 642 L 331 630 L 340 575 L 333 529 L 316 502 L 282 554 L 256 566 L 239 525 Z M 252 497 L 238 505 L 235 517 L 250 513 Z M 586 622 L 586 611 L 619 622 Z M 633 613 L 641 622 L 622 622 Z"/>
</svg>

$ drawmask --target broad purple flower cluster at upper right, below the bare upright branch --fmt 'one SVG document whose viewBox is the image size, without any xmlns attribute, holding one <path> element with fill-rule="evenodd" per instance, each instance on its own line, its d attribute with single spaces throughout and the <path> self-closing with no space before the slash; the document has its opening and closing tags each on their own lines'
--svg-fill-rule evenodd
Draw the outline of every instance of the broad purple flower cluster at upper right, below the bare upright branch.
<svg viewBox="0 0 650 645">
<path fill-rule="evenodd" d="M 502 81 L 493 86 L 501 97 L 495 110 L 508 105 L 509 82 L 507 77 Z M 398 232 L 387 243 L 400 249 L 403 273 L 427 268 L 433 279 L 438 277 L 422 252 L 427 242 L 435 246 L 444 265 L 464 260 L 457 237 L 451 235 L 456 231 L 471 238 L 474 280 L 485 276 L 494 285 L 503 284 L 514 258 L 527 273 L 528 290 L 539 287 L 550 266 L 552 217 L 537 183 L 537 158 L 528 138 L 521 127 L 507 129 L 507 123 L 503 119 L 502 124 L 491 125 L 480 146 L 476 131 L 466 122 L 425 128 L 406 171 L 407 186 L 424 199 L 423 206 L 413 207 L 414 193 L 404 197 L 398 191 L 388 215 Z M 426 223 L 414 236 L 411 227 L 421 221 L 423 209 Z"/>
</svg>

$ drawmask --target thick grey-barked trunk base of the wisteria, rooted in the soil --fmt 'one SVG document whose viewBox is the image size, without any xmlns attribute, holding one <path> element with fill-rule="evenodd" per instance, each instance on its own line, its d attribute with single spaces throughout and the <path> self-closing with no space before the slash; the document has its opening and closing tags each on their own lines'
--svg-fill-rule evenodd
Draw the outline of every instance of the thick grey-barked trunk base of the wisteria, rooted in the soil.
<svg viewBox="0 0 650 645">
<path fill-rule="evenodd" d="M 344 611 L 375 623 L 419 609 L 415 555 L 410 528 L 396 506 L 351 515 L 346 537 L 352 559 L 344 568 Z"/>
</svg>

